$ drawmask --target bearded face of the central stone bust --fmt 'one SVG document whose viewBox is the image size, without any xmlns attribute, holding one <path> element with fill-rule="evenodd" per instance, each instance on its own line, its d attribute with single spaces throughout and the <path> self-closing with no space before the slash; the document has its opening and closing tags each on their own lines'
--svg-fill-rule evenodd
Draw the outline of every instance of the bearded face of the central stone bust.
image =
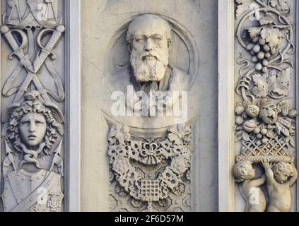
<svg viewBox="0 0 299 226">
<path fill-rule="evenodd" d="M 139 18 L 131 29 L 131 66 L 136 80 L 162 80 L 169 58 L 165 23 L 156 18 Z"/>
</svg>

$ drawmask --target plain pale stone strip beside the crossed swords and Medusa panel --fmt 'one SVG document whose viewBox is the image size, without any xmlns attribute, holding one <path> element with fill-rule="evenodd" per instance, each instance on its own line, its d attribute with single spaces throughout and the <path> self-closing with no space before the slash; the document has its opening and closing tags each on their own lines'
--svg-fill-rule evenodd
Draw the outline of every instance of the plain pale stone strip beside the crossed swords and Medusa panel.
<svg viewBox="0 0 299 226">
<path fill-rule="evenodd" d="M 80 211 L 80 149 L 81 149 L 81 48 L 80 48 L 80 0 L 66 1 L 69 18 L 66 23 L 69 44 L 69 211 Z M 67 62 L 67 61 L 66 61 Z"/>
</svg>

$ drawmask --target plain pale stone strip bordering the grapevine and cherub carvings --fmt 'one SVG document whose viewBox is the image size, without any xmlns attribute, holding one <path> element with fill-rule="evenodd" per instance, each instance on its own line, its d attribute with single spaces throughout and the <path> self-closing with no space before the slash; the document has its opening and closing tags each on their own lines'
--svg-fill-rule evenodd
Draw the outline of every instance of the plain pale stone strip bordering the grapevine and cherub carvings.
<svg viewBox="0 0 299 226">
<path fill-rule="evenodd" d="M 218 0 L 218 208 L 235 210 L 234 0 Z"/>
</svg>

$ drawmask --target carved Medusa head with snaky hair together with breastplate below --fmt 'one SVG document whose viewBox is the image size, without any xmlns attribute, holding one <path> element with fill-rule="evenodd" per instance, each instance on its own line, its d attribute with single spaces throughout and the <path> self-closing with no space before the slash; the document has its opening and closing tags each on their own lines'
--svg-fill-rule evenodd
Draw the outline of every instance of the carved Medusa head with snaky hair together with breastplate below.
<svg viewBox="0 0 299 226">
<path fill-rule="evenodd" d="M 59 108 L 43 102 L 37 91 L 11 107 L 3 164 L 4 211 L 60 210 L 63 121 Z"/>
</svg>

